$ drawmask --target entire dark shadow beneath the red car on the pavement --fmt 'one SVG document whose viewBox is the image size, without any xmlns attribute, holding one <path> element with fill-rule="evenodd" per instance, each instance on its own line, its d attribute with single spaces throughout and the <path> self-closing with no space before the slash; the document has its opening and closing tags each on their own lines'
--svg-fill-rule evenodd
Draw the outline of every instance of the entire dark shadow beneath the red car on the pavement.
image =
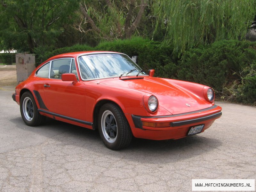
<svg viewBox="0 0 256 192">
<path fill-rule="evenodd" d="M 145 140 L 133 138 L 129 147 L 121 150 L 110 150 L 104 146 L 98 131 L 47 118 L 43 125 L 29 127 L 21 118 L 11 119 L 17 128 L 50 137 L 50 145 L 70 145 L 79 150 L 91 151 L 108 159 L 120 158 L 130 161 L 164 164 L 201 156 L 218 148 L 222 142 L 211 138 L 207 132 L 179 140 Z M 25 128 L 24 128 L 25 127 Z M 48 132 L 54 134 L 49 136 Z"/>
</svg>

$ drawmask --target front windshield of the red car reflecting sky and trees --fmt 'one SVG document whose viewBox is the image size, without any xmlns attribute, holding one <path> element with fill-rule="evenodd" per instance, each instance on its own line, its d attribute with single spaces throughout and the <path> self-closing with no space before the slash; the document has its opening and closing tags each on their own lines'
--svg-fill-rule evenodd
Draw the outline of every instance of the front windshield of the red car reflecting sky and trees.
<svg viewBox="0 0 256 192">
<path fill-rule="evenodd" d="M 136 76 L 141 68 L 127 55 L 103 53 L 83 55 L 78 58 L 83 80 L 118 76 Z M 140 75 L 146 75 L 141 72 Z"/>
</svg>

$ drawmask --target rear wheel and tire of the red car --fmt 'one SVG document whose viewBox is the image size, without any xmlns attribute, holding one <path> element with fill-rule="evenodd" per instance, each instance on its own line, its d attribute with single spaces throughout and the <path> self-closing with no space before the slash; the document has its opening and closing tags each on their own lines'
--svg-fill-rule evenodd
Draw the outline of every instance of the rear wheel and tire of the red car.
<svg viewBox="0 0 256 192">
<path fill-rule="evenodd" d="M 45 116 L 40 115 L 36 101 L 31 92 L 24 92 L 20 99 L 20 114 L 28 126 L 36 126 L 43 123 Z"/>
</svg>

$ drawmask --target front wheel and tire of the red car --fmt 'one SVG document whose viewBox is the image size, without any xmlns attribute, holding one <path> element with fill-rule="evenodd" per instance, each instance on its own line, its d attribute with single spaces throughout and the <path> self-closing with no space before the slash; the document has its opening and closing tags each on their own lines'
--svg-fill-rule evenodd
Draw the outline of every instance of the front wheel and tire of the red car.
<svg viewBox="0 0 256 192">
<path fill-rule="evenodd" d="M 131 143 L 130 125 L 117 105 L 106 103 L 100 108 L 98 126 L 101 140 L 107 148 L 117 150 Z"/>
</svg>

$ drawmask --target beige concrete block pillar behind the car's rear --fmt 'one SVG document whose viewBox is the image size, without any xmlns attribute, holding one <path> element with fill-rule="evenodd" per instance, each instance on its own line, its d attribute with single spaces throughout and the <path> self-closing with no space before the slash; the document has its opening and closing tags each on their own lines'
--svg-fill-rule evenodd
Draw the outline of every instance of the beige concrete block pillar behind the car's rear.
<svg viewBox="0 0 256 192">
<path fill-rule="evenodd" d="M 25 81 L 34 71 L 36 63 L 34 54 L 16 54 L 17 83 Z"/>
</svg>

